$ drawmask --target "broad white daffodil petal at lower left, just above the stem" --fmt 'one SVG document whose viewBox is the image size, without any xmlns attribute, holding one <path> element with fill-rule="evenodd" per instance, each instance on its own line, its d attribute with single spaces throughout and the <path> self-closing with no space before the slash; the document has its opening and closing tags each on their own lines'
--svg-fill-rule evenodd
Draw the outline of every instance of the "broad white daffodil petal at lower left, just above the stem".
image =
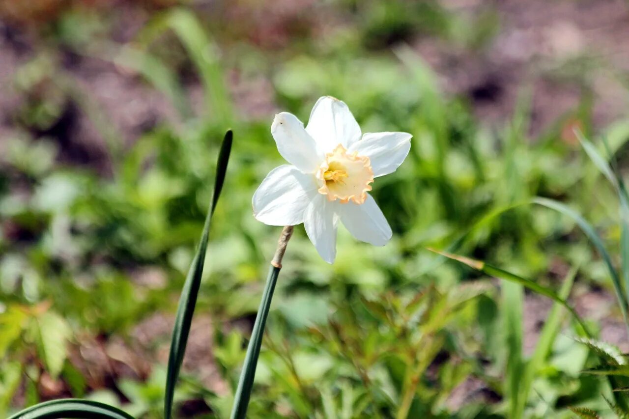
<svg viewBox="0 0 629 419">
<path fill-rule="evenodd" d="M 304 211 L 317 192 L 314 177 L 293 165 L 271 170 L 253 194 L 253 216 L 267 225 L 304 222 Z"/>
</svg>

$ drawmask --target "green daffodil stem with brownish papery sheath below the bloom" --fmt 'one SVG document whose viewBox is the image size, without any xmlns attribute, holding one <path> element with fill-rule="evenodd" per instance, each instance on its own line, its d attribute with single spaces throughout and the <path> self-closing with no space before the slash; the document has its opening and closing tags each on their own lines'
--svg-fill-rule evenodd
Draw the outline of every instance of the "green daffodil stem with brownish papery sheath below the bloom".
<svg viewBox="0 0 629 419">
<path fill-rule="evenodd" d="M 292 230 L 292 226 L 284 227 L 282 235 L 279 238 L 279 243 L 277 244 L 276 254 L 271 260 L 267 284 L 264 287 L 264 294 L 262 295 L 262 301 L 260 301 L 258 315 L 255 318 L 255 323 L 253 324 L 253 332 L 251 333 L 251 340 L 249 341 L 249 345 L 247 347 L 245 363 L 243 364 L 242 372 L 240 372 L 234 406 L 231 410 L 231 419 L 245 419 L 245 416 L 247 416 L 247 407 L 251 397 L 251 389 L 253 388 L 253 378 L 255 377 L 255 367 L 257 367 L 260 347 L 262 346 L 264 325 L 267 321 L 267 316 L 269 315 L 271 299 L 273 298 L 273 291 L 275 291 L 277 276 L 279 275 L 280 269 L 282 269 L 282 259 L 284 257 L 284 252 L 286 252 L 288 240 L 291 238 Z"/>
</svg>

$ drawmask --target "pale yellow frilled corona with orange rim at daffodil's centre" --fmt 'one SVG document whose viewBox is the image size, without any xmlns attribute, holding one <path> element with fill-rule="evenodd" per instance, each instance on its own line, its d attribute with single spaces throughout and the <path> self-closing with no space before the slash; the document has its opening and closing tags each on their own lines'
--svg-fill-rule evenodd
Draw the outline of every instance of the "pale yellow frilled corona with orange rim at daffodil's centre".
<svg viewBox="0 0 629 419">
<path fill-rule="evenodd" d="M 347 204 L 350 200 L 362 204 L 367 199 L 374 182 L 374 170 L 369 157 L 359 156 L 357 152 L 348 154 L 347 149 L 339 144 L 325 155 L 325 162 L 316 172 L 320 185 L 319 193 L 326 195 L 328 201 Z"/>
</svg>

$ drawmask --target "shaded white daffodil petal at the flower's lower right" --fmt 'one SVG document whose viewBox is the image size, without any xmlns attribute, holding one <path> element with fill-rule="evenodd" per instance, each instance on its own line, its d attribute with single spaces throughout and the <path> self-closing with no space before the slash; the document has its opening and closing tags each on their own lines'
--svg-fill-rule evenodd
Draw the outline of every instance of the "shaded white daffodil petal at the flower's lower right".
<svg viewBox="0 0 629 419">
<path fill-rule="evenodd" d="M 374 246 L 384 246 L 391 239 L 391 227 L 374 198 L 367 194 L 364 204 L 338 204 L 341 222 L 353 237 Z"/>
</svg>

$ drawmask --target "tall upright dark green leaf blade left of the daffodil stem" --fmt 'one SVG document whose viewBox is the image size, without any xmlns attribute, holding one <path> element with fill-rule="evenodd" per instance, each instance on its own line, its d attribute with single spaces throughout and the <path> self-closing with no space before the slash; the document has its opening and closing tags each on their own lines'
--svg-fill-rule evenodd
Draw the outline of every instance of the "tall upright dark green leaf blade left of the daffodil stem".
<svg viewBox="0 0 629 419">
<path fill-rule="evenodd" d="M 212 215 L 214 214 L 214 209 L 216 208 L 216 203 L 218 202 L 221 190 L 223 189 L 223 182 L 225 182 L 225 172 L 230 158 L 232 141 L 233 134 L 231 133 L 231 130 L 229 130 L 225 133 L 225 138 L 223 138 L 223 144 L 221 145 L 221 150 L 218 154 L 216 176 L 214 179 L 214 194 L 209 205 L 208 215 L 205 219 L 203 233 L 201 234 L 201 241 L 199 242 L 194 259 L 192 259 L 192 264 L 186 277 L 184 288 L 181 291 L 181 298 L 179 298 L 179 306 L 177 307 L 177 316 L 175 318 L 175 326 L 172 330 L 172 341 L 170 343 L 166 393 L 164 396 L 164 417 L 166 419 L 170 419 L 172 414 L 172 399 L 175 392 L 175 385 L 177 384 L 177 377 L 179 377 L 181 363 L 184 360 L 184 354 L 186 353 L 186 344 L 188 334 L 190 333 L 194 306 L 196 305 L 199 286 L 201 286 L 203 265 L 206 251 L 208 249 L 209 228 L 211 225 Z"/>
</svg>

